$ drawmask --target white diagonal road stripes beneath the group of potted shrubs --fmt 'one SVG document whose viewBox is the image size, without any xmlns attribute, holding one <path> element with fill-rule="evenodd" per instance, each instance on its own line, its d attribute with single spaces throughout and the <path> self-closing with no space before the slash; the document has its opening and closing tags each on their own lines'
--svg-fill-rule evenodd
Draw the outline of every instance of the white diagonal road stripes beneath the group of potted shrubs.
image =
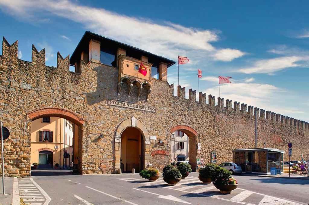
<svg viewBox="0 0 309 205">
<path fill-rule="evenodd" d="M 273 196 L 268 196 L 253 191 L 244 190 L 237 188 L 231 192 L 231 194 L 221 194 L 219 190 L 213 184 L 203 184 L 198 180 L 197 177 L 188 176 L 185 179 L 182 179 L 175 186 L 167 186 L 167 183 L 163 181 L 162 178 L 159 178 L 155 182 L 148 182 L 143 178 L 118 178 L 119 180 L 141 183 L 143 185 L 149 185 L 154 187 L 162 187 L 173 189 L 180 192 L 196 194 L 198 196 L 207 196 L 217 199 L 227 200 L 230 202 L 246 204 L 246 205 L 301 205 L 299 203 L 288 201 L 285 199 L 280 199 Z"/>
</svg>

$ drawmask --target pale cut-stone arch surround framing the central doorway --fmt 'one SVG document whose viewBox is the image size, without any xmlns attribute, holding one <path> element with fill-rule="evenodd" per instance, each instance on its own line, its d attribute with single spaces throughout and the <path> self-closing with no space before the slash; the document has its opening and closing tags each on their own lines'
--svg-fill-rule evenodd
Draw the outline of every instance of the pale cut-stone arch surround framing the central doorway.
<svg viewBox="0 0 309 205">
<path fill-rule="evenodd" d="M 144 137 L 144 143 L 145 143 L 145 153 L 144 153 L 144 166 L 142 169 L 148 167 L 151 156 L 150 156 L 150 139 L 149 139 L 149 134 L 148 130 L 146 129 L 146 126 L 136 119 L 135 117 L 128 118 L 124 121 L 122 121 L 115 132 L 115 172 L 118 171 L 121 167 L 120 164 L 120 158 L 121 158 L 121 135 L 122 132 L 128 128 L 128 127 L 135 127 L 137 128 L 141 133 L 142 136 Z"/>
</svg>

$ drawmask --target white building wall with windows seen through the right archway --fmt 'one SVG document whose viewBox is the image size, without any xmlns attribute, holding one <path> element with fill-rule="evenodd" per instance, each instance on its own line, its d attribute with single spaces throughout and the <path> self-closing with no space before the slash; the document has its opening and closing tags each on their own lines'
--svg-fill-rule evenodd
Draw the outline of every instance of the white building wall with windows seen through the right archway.
<svg viewBox="0 0 309 205">
<path fill-rule="evenodd" d="M 189 138 L 186 134 L 182 136 L 182 132 L 178 135 L 178 131 L 173 133 L 171 141 L 171 157 L 172 162 L 177 162 L 178 155 L 184 155 L 184 160 L 189 161 Z M 184 148 L 179 148 L 179 142 L 184 142 Z"/>
</svg>

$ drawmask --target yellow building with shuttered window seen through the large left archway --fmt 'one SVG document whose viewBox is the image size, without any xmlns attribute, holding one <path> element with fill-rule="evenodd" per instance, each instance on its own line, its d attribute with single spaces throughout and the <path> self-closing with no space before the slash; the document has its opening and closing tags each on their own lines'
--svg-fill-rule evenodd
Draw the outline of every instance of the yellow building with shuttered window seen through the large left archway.
<svg viewBox="0 0 309 205">
<path fill-rule="evenodd" d="M 43 117 L 31 124 L 31 163 L 38 169 L 68 169 L 74 161 L 76 125 L 60 117 Z"/>
</svg>

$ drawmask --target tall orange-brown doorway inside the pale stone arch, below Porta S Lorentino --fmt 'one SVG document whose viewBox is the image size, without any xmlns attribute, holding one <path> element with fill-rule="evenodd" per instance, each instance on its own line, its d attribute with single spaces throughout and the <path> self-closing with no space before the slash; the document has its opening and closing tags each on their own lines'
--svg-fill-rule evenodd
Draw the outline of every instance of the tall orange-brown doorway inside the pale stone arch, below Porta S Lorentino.
<svg viewBox="0 0 309 205">
<path fill-rule="evenodd" d="M 121 170 L 140 172 L 144 169 L 144 144 L 142 133 L 135 127 L 126 128 L 121 134 Z"/>
</svg>

